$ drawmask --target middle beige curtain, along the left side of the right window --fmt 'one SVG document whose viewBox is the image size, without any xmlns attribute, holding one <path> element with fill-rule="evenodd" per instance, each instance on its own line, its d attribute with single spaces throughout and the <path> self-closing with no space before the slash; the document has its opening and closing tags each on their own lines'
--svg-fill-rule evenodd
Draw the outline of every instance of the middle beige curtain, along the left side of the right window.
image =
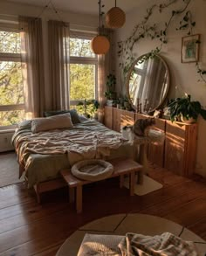
<svg viewBox="0 0 206 256">
<path fill-rule="evenodd" d="M 69 24 L 48 22 L 52 109 L 69 109 Z"/>
</svg>

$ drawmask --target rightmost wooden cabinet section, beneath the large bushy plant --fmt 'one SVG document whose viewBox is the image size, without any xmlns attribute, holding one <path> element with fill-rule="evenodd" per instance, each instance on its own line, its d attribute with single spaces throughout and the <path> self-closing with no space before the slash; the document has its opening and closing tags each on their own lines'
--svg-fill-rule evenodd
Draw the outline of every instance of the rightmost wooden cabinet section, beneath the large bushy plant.
<svg viewBox="0 0 206 256">
<path fill-rule="evenodd" d="M 197 124 L 166 121 L 164 167 L 182 176 L 196 169 Z"/>
</svg>

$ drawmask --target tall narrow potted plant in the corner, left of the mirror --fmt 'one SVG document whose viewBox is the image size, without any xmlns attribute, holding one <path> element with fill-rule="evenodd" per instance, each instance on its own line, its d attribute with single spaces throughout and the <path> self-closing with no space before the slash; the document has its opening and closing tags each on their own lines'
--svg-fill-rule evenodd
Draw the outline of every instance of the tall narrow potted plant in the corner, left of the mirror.
<svg viewBox="0 0 206 256">
<path fill-rule="evenodd" d="M 106 77 L 106 105 L 112 107 L 113 100 L 116 99 L 115 85 L 116 85 L 116 77 L 112 73 L 108 74 Z"/>
</svg>

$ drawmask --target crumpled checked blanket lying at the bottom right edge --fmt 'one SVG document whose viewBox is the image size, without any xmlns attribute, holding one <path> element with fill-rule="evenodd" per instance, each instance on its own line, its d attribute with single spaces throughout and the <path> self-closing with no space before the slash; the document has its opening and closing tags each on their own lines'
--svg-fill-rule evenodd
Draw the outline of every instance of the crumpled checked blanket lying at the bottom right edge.
<svg viewBox="0 0 206 256">
<path fill-rule="evenodd" d="M 119 248 L 122 256 L 197 256 L 193 242 L 165 232 L 154 237 L 127 233 Z"/>
</svg>

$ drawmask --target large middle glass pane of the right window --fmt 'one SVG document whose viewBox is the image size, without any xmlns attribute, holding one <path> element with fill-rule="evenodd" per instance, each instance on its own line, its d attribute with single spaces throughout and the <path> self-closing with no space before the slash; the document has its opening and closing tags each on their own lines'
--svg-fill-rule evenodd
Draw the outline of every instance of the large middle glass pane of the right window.
<svg viewBox="0 0 206 256">
<path fill-rule="evenodd" d="M 70 64 L 70 100 L 95 98 L 95 65 Z"/>
</svg>

